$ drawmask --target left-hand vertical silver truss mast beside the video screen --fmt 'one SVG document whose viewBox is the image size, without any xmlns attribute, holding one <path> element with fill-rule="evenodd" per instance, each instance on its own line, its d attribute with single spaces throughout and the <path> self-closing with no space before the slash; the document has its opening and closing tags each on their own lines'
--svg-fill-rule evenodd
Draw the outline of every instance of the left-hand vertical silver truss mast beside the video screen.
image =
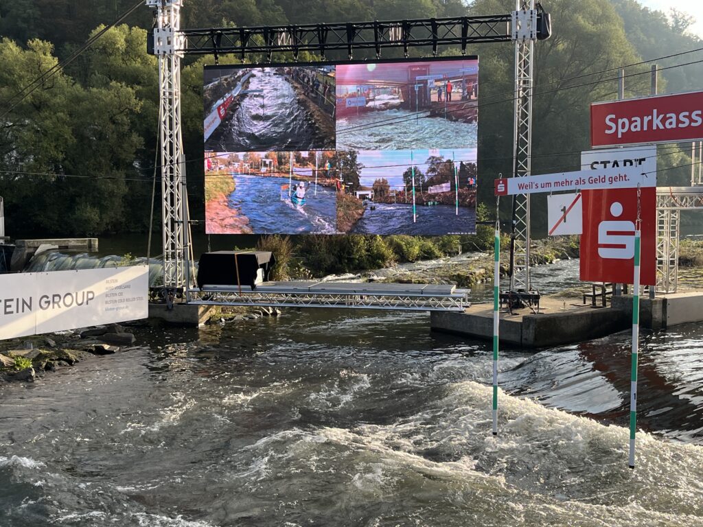
<svg viewBox="0 0 703 527">
<path fill-rule="evenodd" d="M 188 212 L 181 134 L 182 0 L 146 0 L 155 8 L 153 54 L 159 61 L 159 136 L 162 190 L 162 238 L 165 289 L 186 285 Z M 151 50 L 150 50 L 151 51 Z"/>
</svg>

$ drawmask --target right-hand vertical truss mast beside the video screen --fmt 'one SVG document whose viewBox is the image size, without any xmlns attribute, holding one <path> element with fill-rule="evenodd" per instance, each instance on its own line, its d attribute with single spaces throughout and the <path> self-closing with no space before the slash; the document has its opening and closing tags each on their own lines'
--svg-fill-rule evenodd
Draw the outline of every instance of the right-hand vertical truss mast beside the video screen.
<svg viewBox="0 0 703 527">
<path fill-rule="evenodd" d="M 534 0 L 516 0 L 512 13 L 512 39 L 515 40 L 515 152 L 513 177 L 529 176 L 532 164 L 532 86 L 537 11 Z M 530 290 L 530 198 L 513 197 L 513 262 L 510 290 Z"/>
</svg>

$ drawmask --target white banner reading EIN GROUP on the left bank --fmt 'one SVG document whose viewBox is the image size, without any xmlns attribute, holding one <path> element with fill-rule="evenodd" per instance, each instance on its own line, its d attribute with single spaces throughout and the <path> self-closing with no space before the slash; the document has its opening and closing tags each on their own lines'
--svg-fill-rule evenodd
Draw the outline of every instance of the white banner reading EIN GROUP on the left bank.
<svg viewBox="0 0 703 527">
<path fill-rule="evenodd" d="M 148 266 L 0 275 L 0 339 L 147 318 Z"/>
</svg>

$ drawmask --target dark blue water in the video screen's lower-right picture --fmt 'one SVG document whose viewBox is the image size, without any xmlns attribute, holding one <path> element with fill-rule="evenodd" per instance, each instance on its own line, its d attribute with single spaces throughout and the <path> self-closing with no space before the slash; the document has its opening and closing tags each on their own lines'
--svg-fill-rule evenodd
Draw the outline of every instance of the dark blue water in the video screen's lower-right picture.
<svg viewBox="0 0 703 527">
<path fill-rule="evenodd" d="M 366 207 L 361 219 L 354 224 L 353 234 L 411 234 L 441 235 L 476 232 L 476 211 L 468 207 L 434 205 L 416 207 L 413 223 L 413 206 L 404 203 L 375 203 L 375 210 Z"/>
</svg>

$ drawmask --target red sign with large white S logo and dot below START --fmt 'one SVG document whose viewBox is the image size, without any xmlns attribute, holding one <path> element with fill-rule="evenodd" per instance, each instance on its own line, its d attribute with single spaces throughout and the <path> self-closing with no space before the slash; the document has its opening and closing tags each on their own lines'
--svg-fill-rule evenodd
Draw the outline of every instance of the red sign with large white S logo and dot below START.
<svg viewBox="0 0 703 527">
<path fill-rule="evenodd" d="M 657 278 L 657 189 L 640 195 L 640 284 Z M 631 284 L 635 268 L 637 189 L 583 190 L 580 278 Z"/>
</svg>

